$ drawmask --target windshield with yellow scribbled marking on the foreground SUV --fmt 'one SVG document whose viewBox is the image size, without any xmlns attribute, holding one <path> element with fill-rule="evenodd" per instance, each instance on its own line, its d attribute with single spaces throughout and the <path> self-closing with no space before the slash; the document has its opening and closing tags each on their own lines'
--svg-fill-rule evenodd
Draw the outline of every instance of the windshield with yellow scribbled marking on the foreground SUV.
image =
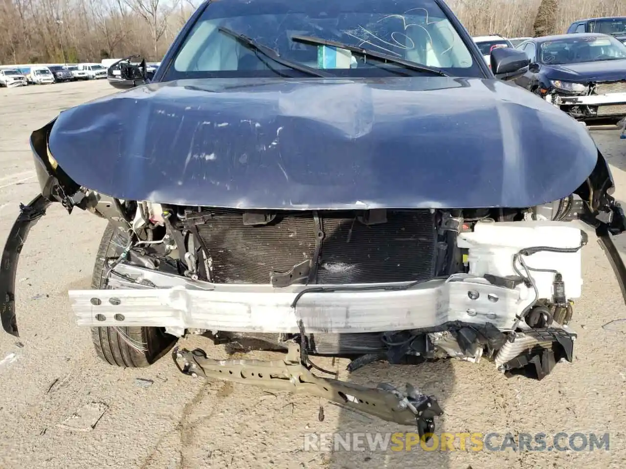
<svg viewBox="0 0 626 469">
<path fill-rule="evenodd" d="M 484 76 L 434 0 L 230 0 L 208 5 L 163 79 L 303 76 L 301 71 L 255 54 L 241 41 L 218 31 L 220 27 L 245 34 L 274 49 L 282 59 L 324 69 L 334 76 L 429 72 L 368 61 L 345 49 L 292 41 L 291 36 L 371 49 L 453 76 Z"/>
</svg>

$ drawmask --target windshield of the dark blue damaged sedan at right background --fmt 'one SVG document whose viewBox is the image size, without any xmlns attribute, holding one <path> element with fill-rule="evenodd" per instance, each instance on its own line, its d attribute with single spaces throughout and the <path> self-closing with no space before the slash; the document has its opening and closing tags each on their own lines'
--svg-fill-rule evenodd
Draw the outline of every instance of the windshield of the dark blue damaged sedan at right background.
<svg viewBox="0 0 626 469">
<path fill-rule="evenodd" d="M 558 39 L 541 43 L 539 59 L 544 64 L 626 59 L 626 46 L 608 36 Z"/>
</svg>

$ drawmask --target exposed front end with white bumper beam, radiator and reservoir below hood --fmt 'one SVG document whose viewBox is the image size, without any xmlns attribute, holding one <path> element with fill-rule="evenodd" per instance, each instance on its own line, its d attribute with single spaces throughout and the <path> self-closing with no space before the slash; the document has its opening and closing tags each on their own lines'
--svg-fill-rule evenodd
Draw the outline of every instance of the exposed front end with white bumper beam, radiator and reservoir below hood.
<svg viewBox="0 0 626 469">
<path fill-rule="evenodd" d="M 80 325 L 165 327 L 244 350 L 295 340 L 354 356 L 352 369 L 485 353 L 542 378 L 571 359 L 587 243 L 569 223 L 574 196 L 526 210 L 298 213 L 86 198 L 125 249 L 109 260 L 113 290 L 69 292 Z"/>
</svg>

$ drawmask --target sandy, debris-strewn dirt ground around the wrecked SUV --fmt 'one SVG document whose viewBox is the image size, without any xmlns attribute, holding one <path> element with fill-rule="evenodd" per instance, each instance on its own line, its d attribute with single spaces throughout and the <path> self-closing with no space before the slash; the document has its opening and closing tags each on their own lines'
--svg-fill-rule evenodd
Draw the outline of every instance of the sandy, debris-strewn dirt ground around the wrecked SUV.
<svg viewBox="0 0 626 469">
<path fill-rule="evenodd" d="M 115 90 L 106 82 L 0 89 L 0 242 L 38 191 L 29 132 L 62 109 Z M 615 129 L 593 130 L 612 164 L 617 198 L 626 200 L 626 141 Z M 410 381 L 439 398 L 445 410 L 438 431 L 565 432 L 610 435 L 610 449 L 593 451 L 305 451 L 312 432 L 411 431 L 364 419 L 317 398 L 270 395 L 257 388 L 203 382 L 179 375 L 166 356 L 155 366 L 123 370 L 101 363 L 89 331 L 74 326 L 66 291 L 88 288 L 105 223 L 54 205 L 31 231 L 18 271 L 21 337 L 0 334 L 0 467 L 128 469 L 200 467 L 342 468 L 552 468 L 626 466 L 626 318 L 620 291 L 600 247 L 583 250 L 585 298 L 573 328 L 575 361 L 557 365 L 541 382 L 501 376 L 489 361 L 441 361 L 421 366 L 372 365 L 342 378 L 375 385 Z M 620 240 L 620 250 L 626 246 Z M 623 324 L 623 323 L 622 323 Z M 225 357 L 206 341 L 209 355 Z M 269 356 L 258 354 L 257 356 Z M 321 361 L 331 366 L 330 361 Z M 346 363 L 335 364 L 340 369 Z M 138 380 L 138 378 L 141 378 Z M 91 431 L 59 427 L 81 406 L 106 411 Z M 491 440 L 500 446 L 502 436 Z M 582 445 L 580 440 L 575 443 Z M 562 440 L 567 445 L 567 438 Z M 459 445 L 457 443 L 457 448 Z"/>
</svg>

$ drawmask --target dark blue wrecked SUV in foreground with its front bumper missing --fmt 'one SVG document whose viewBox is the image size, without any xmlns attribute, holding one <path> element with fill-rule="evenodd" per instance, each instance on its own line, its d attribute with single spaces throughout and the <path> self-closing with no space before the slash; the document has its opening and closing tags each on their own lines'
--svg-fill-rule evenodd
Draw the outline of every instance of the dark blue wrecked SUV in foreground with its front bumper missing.
<svg viewBox="0 0 626 469">
<path fill-rule="evenodd" d="M 204 335 L 284 360 L 172 351 L 192 376 L 307 392 L 434 428 L 436 399 L 366 388 L 312 356 L 493 360 L 542 378 L 572 360 L 582 219 L 620 285 L 625 230 L 587 129 L 491 69 L 441 0 L 220 0 L 156 73 L 34 131 L 41 194 L 0 270 L 4 330 L 19 252 L 51 203 L 108 219 L 93 290 L 69 291 L 111 365 L 146 366 Z M 317 370 L 315 374 L 313 370 Z"/>
</svg>

